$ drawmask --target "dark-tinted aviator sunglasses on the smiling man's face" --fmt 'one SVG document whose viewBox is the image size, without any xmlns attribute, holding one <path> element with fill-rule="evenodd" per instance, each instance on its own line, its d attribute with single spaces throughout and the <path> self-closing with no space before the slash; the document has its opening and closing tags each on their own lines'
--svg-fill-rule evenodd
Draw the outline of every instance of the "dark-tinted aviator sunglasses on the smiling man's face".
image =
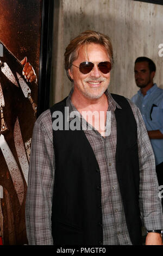
<svg viewBox="0 0 163 256">
<path fill-rule="evenodd" d="M 94 62 L 97 64 L 99 71 L 101 71 L 103 74 L 107 74 L 111 70 L 111 63 L 110 62 Z M 95 65 L 93 62 L 82 62 L 79 66 L 76 66 L 72 64 L 73 66 L 76 66 L 82 74 L 88 74 L 93 69 L 93 66 Z"/>
</svg>

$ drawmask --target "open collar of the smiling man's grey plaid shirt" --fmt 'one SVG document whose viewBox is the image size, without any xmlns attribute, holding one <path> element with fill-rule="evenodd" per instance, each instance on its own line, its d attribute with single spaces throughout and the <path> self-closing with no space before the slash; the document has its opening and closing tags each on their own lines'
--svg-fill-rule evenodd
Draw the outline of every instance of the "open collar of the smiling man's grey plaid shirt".
<svg viewBox="0 0 163 256">
<path fill-rule="evenodd" d="M 66 100 L 66 107 L 69 108 L 69 114 L 70 114 L 72 111 L 77 111 L 77 112 L 78 112 L 77 108 L 73 105 L 73 103 L 72 103 L 72 101 L 71 101 L 71 95 L 72 95 L 72 93 L 73 93 L 73 88 L 71 89 L 70 94 L 68 95 L 67 100 Z M 111 94 L 109 93 L 109 90 L 108 90 L 108 89 L 106 89 L 105 95 L 106 95 L 106 97 L 107 97 L 107 99 L 108 99 L 108 102 L 109 102 L 108 111 L 115 111 L 116 107 L 122 109 L 122 108 L 120 107 L 120 105 L 118 105 L 118 103 L 113 99 L 113 97 L 112 97 Z M 79 113 L 79 112 L 78 112 L 78 113 Z M 79 113 L 79 115 L 80 115 L 80 118 L 82 118 L 82 115 L 81 115 L 80 113 Z M 73 118 L 74 118 L 74 117 L 73 117 Z M 72 117 L 70 118 L 70 116 L 69 116 L 69 121 L 72 120 L 73 118 L 72 118 Z"/>
</svg>

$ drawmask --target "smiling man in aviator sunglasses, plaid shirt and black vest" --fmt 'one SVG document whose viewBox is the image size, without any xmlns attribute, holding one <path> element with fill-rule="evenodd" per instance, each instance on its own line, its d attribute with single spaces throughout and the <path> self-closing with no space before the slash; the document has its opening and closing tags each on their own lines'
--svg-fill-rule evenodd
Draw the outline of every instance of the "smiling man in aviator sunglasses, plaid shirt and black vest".
<svg viewBox="0 0 163 256">
<path fill-rule="evenodd" d="M 146 244 L 162 244 L 153 151 L 137 107 L 108 91 L 112 64 L 102 33 L 83 32 L 66 48 L 74 86 L 40 115 L 33 132 L 30 245 L 141 245 L 140 215 Z"/>
</svg>

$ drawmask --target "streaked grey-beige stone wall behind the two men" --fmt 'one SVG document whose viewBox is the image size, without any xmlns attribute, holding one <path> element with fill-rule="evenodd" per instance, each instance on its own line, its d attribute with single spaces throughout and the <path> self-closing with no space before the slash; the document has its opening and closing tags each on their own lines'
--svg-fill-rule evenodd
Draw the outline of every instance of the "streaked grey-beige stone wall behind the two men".
<svg viewBox="0 0 163 256">
<path fill-rule="evenodd" d="M 128 98 L 137 92 L 134 61 L 152 58 L 157 71 L 154 82 L 163 88 L 163 5 L 133 0 L 55 0 L 51 105 L 70 92 L 72 83 L 64 70 L 65 48 L 87 29 L 109 35 L 114 49 L 110 92 Z"/>
</svg>

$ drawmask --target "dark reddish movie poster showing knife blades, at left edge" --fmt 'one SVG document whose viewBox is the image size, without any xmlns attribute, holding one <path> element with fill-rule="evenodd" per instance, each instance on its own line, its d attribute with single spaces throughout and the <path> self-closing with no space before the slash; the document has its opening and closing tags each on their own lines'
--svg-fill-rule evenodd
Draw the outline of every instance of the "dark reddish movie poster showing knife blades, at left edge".
<svg viewBox="0 0 163 256">
<path fill-rule="evenodd" d="M 40 0 L 0 0 L 0 243 L 27 244 L 25 202 L 37 113 Z M 37 81 L 22 74 L 27 57 Z"/>
</svg>

